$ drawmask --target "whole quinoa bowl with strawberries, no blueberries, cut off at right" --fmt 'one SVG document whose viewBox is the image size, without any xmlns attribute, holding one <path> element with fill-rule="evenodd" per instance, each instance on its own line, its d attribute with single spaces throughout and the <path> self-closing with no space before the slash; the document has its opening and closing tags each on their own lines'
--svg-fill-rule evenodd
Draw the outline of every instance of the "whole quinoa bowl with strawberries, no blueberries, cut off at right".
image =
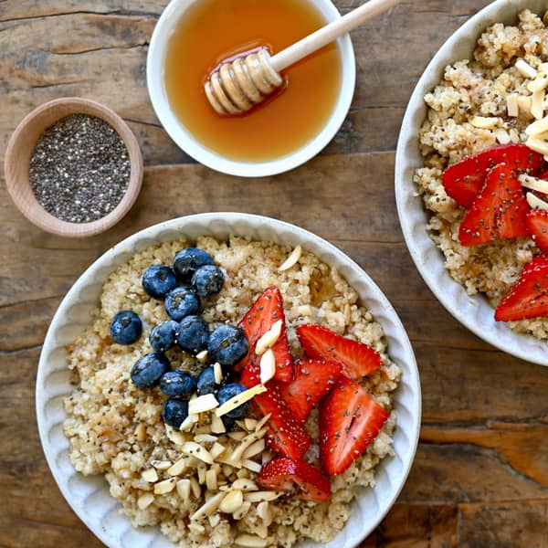
<svg viewBox="0 0 548 548">
<path fill-rule="evenodd" d="M 409 101 L 395 165 L 407 248 L 437 299 L 486 342 L 543 365 L 547 10 L 499 0 L 448 39 Z"/>
</svg>

